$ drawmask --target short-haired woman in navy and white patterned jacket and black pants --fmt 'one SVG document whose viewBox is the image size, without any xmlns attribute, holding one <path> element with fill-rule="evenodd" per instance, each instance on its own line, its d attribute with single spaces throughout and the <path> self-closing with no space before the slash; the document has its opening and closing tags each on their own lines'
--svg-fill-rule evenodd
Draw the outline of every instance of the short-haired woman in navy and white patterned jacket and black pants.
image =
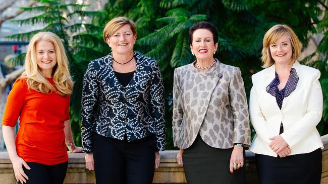
<svg viewBox="0 0 328 184">
<path fill-rule="evenodd" d="M 89 63 L 82 93 L 86 168 L 97 183 L 152 183 L 165 148 L 164 88 L 156 60 L 133 51 L 135 24 L 118 17 L 103 38 L 112 53 Z"/>
</svg>

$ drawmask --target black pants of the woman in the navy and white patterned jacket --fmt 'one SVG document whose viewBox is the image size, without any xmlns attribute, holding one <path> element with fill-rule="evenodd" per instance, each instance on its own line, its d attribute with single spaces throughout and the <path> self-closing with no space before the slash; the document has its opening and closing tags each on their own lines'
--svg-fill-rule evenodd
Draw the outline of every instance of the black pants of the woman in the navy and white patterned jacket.
<svg viewBox="0 0 328 184">
<path fill-rule="evenodd" d="M 93 159 L 96 183 L 152 183 L 155 150 L 154 135 L 128 142 L 94 134 Z"/>
</svg>

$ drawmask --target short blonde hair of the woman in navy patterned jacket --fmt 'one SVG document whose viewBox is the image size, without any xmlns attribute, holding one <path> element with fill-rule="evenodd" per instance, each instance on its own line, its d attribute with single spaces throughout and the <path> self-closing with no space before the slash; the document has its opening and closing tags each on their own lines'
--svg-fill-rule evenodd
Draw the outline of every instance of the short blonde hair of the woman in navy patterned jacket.
<svg viewBox="0 0 328 184">
<path fill-rule="evenodd" d="M 117 30 L 126 24 L 130 25 L 133 35 L 137 36 L 136 25 L 132 20 L 126 17 L 117 17 L 106 24 L 103 29 L 103 40 L 106 41 L 106 38 L 110 38 L 115 32 L 117 32 Z"/>
</svg>

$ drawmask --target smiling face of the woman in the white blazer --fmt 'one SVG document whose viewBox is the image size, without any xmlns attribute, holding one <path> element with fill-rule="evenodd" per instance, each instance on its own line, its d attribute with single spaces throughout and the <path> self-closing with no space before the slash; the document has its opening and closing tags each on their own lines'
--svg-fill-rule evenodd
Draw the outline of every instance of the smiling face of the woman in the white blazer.
<svg viewBox="0 0 328 184">
<path fill-rule="evenodd" d="M 270 54 L 277 64 L 292 63 L 293 48 L 289 35 L 284 33 L 275 43 L 270 44 Z"/>
</svg>

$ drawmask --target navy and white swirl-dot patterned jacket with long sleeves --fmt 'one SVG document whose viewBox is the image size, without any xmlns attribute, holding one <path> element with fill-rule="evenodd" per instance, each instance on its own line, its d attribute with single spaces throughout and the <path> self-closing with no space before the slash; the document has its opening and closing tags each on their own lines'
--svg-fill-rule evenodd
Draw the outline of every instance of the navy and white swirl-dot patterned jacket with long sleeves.
<svg viewBox="0 0 328 184">
<path fill-rule="evenodd" d="M 84 74 L 81 134 L 83 150 L 93 150 L 93 133 L 128 141 L 156 135 L 157 149 L 165 149 L 164 87 L 153 58 L 134 53 L 137 67 L 123 86 L 113 70 L 113 54 L 93 60 Z"/>
</svg>

